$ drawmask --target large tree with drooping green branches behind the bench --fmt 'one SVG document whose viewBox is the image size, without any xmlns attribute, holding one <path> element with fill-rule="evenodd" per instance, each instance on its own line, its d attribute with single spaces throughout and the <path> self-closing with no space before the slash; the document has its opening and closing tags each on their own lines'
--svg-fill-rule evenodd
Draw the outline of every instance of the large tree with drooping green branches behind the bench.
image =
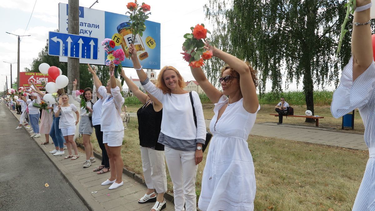
<svg viewBox="0 0 375 211">
<path fill-rule="evenodd" d="M 302 80 L 306 107 L 314 115 L 314 85 L 324 87 L 339 82 L 339 72 L 351 56 L 349 32 L 344 36 L 340 54 L 336 54 L 345 0 L 209 0 L 205 16 L 213 25 L 211 41 L 216 47 L 240 59 L 248 60 L 259 72 L 259 91 L 282 92 Z M 216 85 L 224 64 L 209 60 L 204 70 Z M 306 119 L 307 122 L 314 121 Z"/>
</svg>

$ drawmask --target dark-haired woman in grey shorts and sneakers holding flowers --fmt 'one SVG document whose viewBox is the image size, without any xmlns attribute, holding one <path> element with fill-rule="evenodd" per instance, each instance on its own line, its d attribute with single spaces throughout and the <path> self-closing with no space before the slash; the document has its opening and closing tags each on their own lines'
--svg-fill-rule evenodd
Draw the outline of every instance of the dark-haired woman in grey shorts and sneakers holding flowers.
<svg viewBox="0 0 375 211">
<path fill-rule="evenodd" d="M 82 134 L 83 145 L 85 146 L 86 153 L 86 161 L 83 164 L 84 168 L 91 166 L 91 163 L 95 162 L 94 148 L 92 143 L 90 142 L 90 137 L 93 133 L 93 126 L 90 120 L 92 113 L 90 113 L 88 109 L 92 109 L 94 105 L 92 94 L 93 90 L 90 87 L 87 87 L 84 90 L 77 90 L 77 79 L 74 79 L 72 91 L 73 99 L 81 104 L 81 121 L 79 132 L 80 134 Z"/>
</svg>

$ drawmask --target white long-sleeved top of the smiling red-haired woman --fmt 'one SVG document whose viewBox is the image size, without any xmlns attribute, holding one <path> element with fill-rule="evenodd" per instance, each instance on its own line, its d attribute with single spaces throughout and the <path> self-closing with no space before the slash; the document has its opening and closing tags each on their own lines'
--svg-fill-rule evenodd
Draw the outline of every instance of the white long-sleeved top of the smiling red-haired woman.
<svg viewBox="0 0 375 211">
<path fill-rule="evenodd" d="M 206 124 L 198 93 L 192 92 L 197 124 L 197 127 L 195 127 L 189 93 L 181 95 L 164 94 L 149 80 L 143 87 L 163 104 L 161 133 L 175 139 L 206 139 Z"/>
</svg>

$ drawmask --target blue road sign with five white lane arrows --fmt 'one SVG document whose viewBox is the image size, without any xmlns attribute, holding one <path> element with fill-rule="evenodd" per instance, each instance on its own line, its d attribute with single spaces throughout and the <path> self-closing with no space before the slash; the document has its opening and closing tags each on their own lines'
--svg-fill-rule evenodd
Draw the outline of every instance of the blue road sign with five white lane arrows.
<svg viewBox="0 0 375 211">
<path fill-rule="evenodd" d="M 98 59 L 98 38 L 60 32 L 48 33 L 48 55 Z"/>
</svg>

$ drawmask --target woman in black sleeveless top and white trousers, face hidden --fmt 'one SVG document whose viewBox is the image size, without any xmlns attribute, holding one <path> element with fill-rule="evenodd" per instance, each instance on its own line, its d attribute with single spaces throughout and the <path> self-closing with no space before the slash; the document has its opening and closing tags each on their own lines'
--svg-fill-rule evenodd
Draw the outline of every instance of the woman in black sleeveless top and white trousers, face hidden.
<svg viewBox="0 0 375 211">
<path fill-rule="evenodd" d="M 164 193 L 167 190 L 164 145 L 158 143 L 160 127 L 162 123 L 163 105 L 154 96 L 146 95 L 133 83 L 123 69 L 120 74 L 129 89 L 144 104 L 137 111 L 139 145 L 141 147 L 142 167 L 147 192 L 138 200 L 138 203 L 156 202 L 151 211 L 166 207 Z M 154 193 L 156 190 L 157 197 Z M 164 203 L 164 204 L 163 204 Z"/>
</svg>

